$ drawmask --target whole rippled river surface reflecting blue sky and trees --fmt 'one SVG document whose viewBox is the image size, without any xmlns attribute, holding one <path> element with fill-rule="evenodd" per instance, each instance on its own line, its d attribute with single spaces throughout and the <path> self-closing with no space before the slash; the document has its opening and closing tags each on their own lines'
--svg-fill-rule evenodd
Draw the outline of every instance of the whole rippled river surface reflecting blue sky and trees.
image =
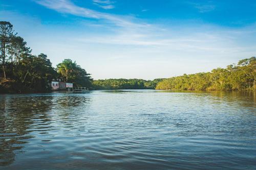
<svg viewBox="0 0 256 170">
<path fill-rule="evenodd" d="M 0 169 L 256 169 L 253 92 L 0 96 Z"/>
</svg>

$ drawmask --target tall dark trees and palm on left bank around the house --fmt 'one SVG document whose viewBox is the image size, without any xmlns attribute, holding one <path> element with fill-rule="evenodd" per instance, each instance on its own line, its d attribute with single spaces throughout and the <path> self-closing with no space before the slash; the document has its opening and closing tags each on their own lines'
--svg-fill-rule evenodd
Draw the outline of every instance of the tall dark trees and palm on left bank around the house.
<svg viewBox="0 0 256 170">
<path fill-rule="evenodd" d="M 70 59 L 52 67 L 45 54 L 31 54 L 27 42 L 14 33 L 10 22 L 0 21 L 0 92 L 51 91 L 51 81 L 91 86 L 90 74 Z"/>
</svg>

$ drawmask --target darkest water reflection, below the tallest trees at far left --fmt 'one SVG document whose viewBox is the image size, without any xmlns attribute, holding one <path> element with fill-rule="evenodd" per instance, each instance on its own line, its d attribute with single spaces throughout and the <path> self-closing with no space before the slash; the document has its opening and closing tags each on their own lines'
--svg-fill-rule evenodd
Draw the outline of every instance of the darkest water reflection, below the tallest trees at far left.
<svg viewBox="0 0 256 170">
<path fill-rule="evenodd" d="M 38 119 L 40 124 L 50 122 L 52 96 L 4 96 L 0 103 L 0 166 L 4 166 L 13 163 L 14 151 L 22 149 L 24 140 L 33 137 L 29 129 Z"/>
</svg>

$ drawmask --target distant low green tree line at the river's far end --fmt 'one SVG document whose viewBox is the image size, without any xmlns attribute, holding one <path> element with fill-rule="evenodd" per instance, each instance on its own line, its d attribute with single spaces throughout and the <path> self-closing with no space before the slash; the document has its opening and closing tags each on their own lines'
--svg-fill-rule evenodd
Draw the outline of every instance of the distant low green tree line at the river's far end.
<svg viewBox="0 0 256 170">
<path fill-rule="evenodd" d="M 98 90 L 110 89 L 155 89 L 158 82 L 163 79 L 142 80 L 142 79 L 105 79 L 93 81 L 93 88 Z"/>
</svg>

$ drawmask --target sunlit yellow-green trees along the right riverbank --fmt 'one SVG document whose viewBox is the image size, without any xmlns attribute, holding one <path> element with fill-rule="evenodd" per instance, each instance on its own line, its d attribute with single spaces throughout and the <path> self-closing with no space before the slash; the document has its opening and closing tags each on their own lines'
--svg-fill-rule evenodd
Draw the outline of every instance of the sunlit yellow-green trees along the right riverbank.
<svg viewBox="0 0 256 170">
<path fill-rule="evenodd" d="M 227 68 L 213 69 L 165 79 L 157 84 L 156 89 L 180 90 L 255 90 L 256 58 L 251 57 L 228 65 Z"/>
</svg>

